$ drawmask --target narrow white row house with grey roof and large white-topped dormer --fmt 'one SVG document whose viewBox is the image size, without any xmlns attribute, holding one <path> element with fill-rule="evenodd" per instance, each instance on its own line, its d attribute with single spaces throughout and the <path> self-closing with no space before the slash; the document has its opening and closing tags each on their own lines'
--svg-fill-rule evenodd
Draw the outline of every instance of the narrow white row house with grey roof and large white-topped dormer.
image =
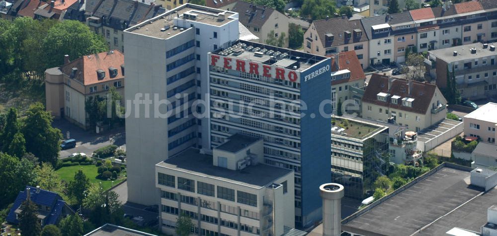
<svg viewBox="0 0 497 236">
<path fill-rule="evenodd" d="M 390 66 L 390 63 L 395 61 L 395 37 L 389 24 L 390 20 L 388 14 L 361 19 L 369 39 L 369 66 Z"/>
</svg>

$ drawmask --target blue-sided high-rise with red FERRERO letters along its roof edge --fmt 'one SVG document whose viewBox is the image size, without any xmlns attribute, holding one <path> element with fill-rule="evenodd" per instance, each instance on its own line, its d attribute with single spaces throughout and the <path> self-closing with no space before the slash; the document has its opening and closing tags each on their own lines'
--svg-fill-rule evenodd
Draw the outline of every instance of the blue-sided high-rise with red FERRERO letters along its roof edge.
<svg viewBox="0 0 497 236">
<path fill-rule="evenodd" d="M 296 226 L 321 220 L 316 189 L 331 175 L 331 59 L 240 40 L 209 62 L 211 148 L 237 133 L 262 138 L 266 164 L 295 170 Z"/>
</svg>

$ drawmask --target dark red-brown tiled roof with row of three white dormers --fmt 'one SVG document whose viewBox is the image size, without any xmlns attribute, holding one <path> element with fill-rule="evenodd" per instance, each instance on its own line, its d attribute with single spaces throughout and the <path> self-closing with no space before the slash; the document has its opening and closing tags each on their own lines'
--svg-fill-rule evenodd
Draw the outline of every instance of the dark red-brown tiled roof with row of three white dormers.
<svg viewBox="0 0 497 236">
<path fill-rule="evenodd" d="M 369 84 L 364 91 L 364 96 L 362 97 L 362 102 L 373 103 L 379 106 L 384 106 L 388 108 L 399 109 L 403 111 L 410 111 L 419 114 L 426 114 L 428 109 L 431 107 L 431 98 L 434 96 L 437 89 L 435 84 L 424 83 L 418 81 L 411 82 L 411 88 L 409 88 L 409 82 L 407 79 L 392 78 L 389 86 L 389 77 L 382 76 L 380 74 L 373 74 L 369 80 Z M 385 92 L 390 94 L 387 101 L 379 101 L 377 94 L 380 92 Z M 394 104 L 391 102 L 391 96 L 398 95 L 401 98 L 410 97 L 414 98 L 412 107 L 403 106 L 402 102 L 397 102 Z M 440 98 L 445 102 L 443 96 Z"/>
</svg>

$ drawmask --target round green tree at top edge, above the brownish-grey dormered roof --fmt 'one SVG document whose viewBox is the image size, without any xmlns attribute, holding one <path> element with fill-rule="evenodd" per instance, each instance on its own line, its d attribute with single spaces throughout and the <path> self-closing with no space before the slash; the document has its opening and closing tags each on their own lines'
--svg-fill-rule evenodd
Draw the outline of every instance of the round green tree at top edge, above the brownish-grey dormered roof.
<svg viewBox="0 0 497 236">
<path fill-rule="evenodd" d="M 336 7 L 332 0 L 304 0 L 301 15 L 308 16 L 312 20 L 320 20 L 335 17 Z"/>
</svg>

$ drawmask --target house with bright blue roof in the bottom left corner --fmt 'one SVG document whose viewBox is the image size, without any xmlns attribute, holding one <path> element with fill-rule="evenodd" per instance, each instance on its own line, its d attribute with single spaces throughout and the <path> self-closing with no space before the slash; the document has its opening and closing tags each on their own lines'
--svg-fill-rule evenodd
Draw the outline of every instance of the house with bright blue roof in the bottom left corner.
<svg viewBox="0 0 497 236">
<path fill-rule="evenodd" d="M 75 214 L 59 194 L 40 189 L 40 186 L 26 186 L 24 191 L 20 191 L 19 194 L 17 194 L 12 208 L 10 208 L 6 217 L 8 223 L 14 225 L 19 224 L 19 215 L 22 212 L 20 207 L 27 199 L 30 199 L 38 206 L 37 217 L 42 227 L 46 225 L 57 225 L 63 217 Z"/>
</svg>

